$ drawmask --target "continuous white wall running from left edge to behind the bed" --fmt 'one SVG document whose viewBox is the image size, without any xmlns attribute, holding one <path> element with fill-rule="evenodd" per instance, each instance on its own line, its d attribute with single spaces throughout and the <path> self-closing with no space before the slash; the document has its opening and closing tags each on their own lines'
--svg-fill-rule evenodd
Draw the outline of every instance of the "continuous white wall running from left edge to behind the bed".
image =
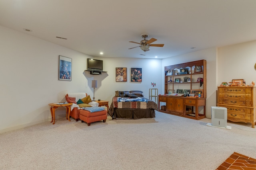
<svg viewBox="0 0 256 170">
<path fill-rule="evenodd" d="M 141 90 L 148 97 L 151 81 L 162 84 L 162 60 L 100 58 L 104 73 L 86 70 L 91 56 L 0 26 L 0 133 L 51 119 L 49 103 L 64 102 L 68 92 L 87 92 L 93 97 L 91 80 L 99 80 L 96 99 L 111 102 L 116 90 Z M 58 80 L 59 55 L 72 58 L 72 81 Z M 115 68 L 127 67 L 128 81 L 115 81 Z M 142 82 L 130 82 L 130 68 L 142 68 Z M 56 115 L 65 113 L 56 109 Z M 72 120 L 74 121 L 74 119 Z M 56 122 L 57 123 L 57 122 Z"/>
</svg>

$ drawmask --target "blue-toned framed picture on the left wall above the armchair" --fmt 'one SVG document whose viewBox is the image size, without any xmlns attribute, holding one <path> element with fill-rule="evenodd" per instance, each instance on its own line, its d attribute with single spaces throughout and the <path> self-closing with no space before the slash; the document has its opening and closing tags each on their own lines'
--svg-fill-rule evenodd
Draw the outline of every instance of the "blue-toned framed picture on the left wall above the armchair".
<svg viewBox="0 0 256 170">
<path fill-rule="evenodd" d="M 59 55 L 59 80 L 71 81 L 72 59 Z"/>
</svg>

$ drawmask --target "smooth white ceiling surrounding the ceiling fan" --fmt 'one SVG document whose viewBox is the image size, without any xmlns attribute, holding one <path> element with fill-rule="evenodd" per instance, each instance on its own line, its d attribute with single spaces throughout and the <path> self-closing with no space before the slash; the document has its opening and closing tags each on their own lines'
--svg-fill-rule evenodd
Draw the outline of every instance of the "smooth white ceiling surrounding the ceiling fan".
<svg viewBox="0 0 256 170">
<path fill-rule="evenodd" d="M 0 0 L 0 25 L 94 57 L 163 59 L 255 40 L 256 0 Z M 164 47 L 128 49 L 142 33 Z"/>
</svg>

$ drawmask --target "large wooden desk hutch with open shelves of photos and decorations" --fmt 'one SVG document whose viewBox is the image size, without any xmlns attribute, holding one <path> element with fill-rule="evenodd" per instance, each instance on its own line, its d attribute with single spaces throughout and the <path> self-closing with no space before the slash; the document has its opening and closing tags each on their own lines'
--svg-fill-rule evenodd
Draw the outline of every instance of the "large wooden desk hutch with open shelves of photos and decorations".
<svg viewBox="0 0 256 170">
<path fill-rule="evenodd" d="M 164 73 L 164 94 L 158 97 L 158 111 L 205 118 L 206 60 L 165 66 Z"/>
</svg>

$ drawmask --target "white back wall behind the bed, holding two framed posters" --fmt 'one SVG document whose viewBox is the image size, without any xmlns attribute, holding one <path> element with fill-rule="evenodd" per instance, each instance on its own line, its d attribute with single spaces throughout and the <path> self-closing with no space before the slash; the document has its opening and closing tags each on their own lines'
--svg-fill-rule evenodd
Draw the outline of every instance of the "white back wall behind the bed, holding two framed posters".
<svg viewBox="0 0 256 170">
<path fill-rule="evenodd" d="M 162 60 L 160 59 L 103 57 L 97 59 L 103 60 L 103 70 L 107 71 L 107 73 L 94 75 L 94 80 L 98 80 L 98 88 L 95 88 L 95 99 L 111 101 L 116 90 L 141 90 L 144 97 L 149 98 L 150 88 L 162 90 Z M 116 82 L 116 67 L 127 68 L 127 82 Z M 142 68 L 142 82 L 130 82 L 131 68 Z M 89 74 L 87 76 L 92 75 Z M 151 82 L 156 83 L 156 86 L 151 86 Z"/>
</svg>

